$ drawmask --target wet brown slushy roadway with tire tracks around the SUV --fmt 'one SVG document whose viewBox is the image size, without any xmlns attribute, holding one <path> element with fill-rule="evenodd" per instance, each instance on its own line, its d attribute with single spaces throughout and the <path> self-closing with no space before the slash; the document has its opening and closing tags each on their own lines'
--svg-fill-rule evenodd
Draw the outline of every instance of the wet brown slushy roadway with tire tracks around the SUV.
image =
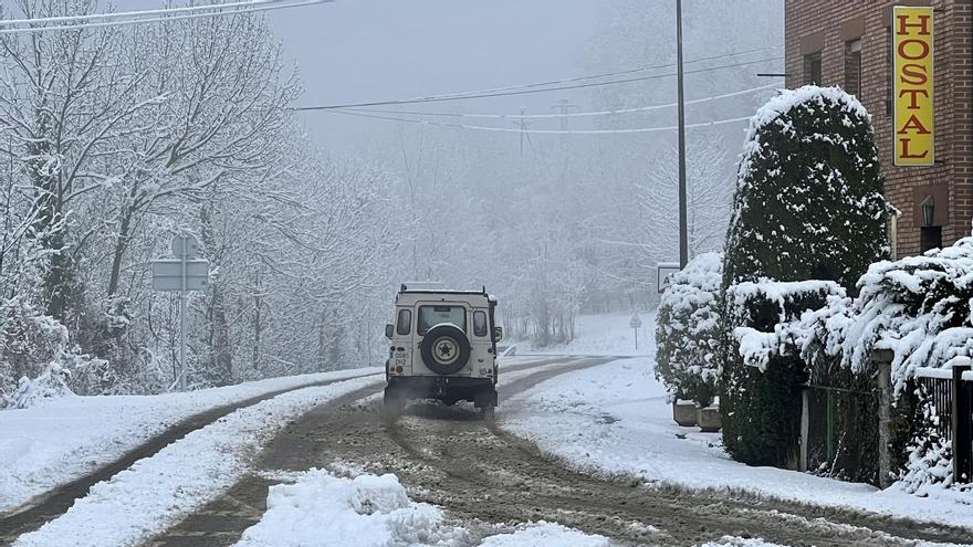
<svg viewBox="0 0 973 547">
<path fill-rule="evenodd" d="M 563 358 L 557 365 L 548 361 L 543 364 L 548 366 L 509 372 L 501 385 L 501 401 L 568 372 L 587 369 L 596 374 L 597 367 L 611 360 Z M 268 512 L 268 493 L 274 484 L 286 482 L 282 477 L 336 464 L 337 469 L 396 474 L 412 499 L 443 507 L 448 524 L 465 530 L 460 537 L 429 545 L 479 545 L 514 530 L 517 524 L 540 520 L 605 536 L 620 545 L 700 545 L 724 536 L 761 537 L 795 546 L 973 540 L 973 535 L 962 530 L 864 518 L 859 513 L 746 495 L 652 488 L 628 477 L 593 477 L 568 470 L 530 442 L 500 429 L 486 429 L 469 408 L 414 404 L 395 427 L 386 428 L 376 393 L 373 387 L 363 388 L 296 420 L 266 446 L 260 471 L 146 545 L 233 545 L 247 538 L 248 528 L 258 529 L 255 525 Z M 279 540 L 291 545 L 282 537 Z"/>
</svg>

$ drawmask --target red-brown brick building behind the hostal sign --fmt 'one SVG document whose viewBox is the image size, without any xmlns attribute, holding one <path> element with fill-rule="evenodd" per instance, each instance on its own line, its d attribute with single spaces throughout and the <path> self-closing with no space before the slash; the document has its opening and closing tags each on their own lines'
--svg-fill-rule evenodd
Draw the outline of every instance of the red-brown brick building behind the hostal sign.
<svg viewBox="0 0 973 547">
<path fill-rule="evenodd" d="M 896 167 L 892 160 L 892 6 L 931 6 L 934 10 L 932 166 Z M 973 0 L 785 0 L 784 19 L 787 87 L 838 85 L 872 114 L 886 193 L 902 212 L 893 224 L 896 254 L 917 254 L 969 235 L 973 222 Z"/>
</svg>

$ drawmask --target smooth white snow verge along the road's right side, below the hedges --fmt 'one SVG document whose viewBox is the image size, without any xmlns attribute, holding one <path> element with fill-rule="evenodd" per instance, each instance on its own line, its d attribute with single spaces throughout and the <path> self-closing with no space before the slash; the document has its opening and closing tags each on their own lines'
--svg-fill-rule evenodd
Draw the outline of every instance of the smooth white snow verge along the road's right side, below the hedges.
<svg viewBox="0 0 973 547">
<path fill-rule="evenodd" d="M 585 340 L 584 347 L 605 347 L 605 353 L 618 355 L 611 351 L 611 344 L 621 339 L 624 328 L 627 322 L 616 318 L 615 332 L 609 332 L 607 339 Z M 567 350 L 575 351 L 573 346 Z M 719 433 L 701 433 L 672 421 L 666 390 L 652 374 L 653 347 L 649 345 L 647 351 L 646 357 L 617 360 L 538 385 L 506 406 L 501 425 L 587 471 L 973 527 L 970 497 L 921 498 L 897 488 L 879 491 L 866 484 L 732 461 Z"/>
</svg>

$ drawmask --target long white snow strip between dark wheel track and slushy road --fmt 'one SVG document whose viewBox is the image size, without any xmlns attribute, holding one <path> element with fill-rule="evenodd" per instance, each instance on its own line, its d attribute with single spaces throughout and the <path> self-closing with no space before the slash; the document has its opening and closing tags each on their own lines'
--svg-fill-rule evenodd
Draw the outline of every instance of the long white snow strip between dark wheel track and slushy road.
<svg viewBox="0 0 973 547">
<path fill-rule="evenodd" d="M 237 410 L 94 485 L 67 513 L 21 536 L 14 547 L 64 545 L 67 537 L 75 547 L 135 545 L 219 496 L 290 420 L 376 382 L 373 376 L 302 388 Z"/>
</svg>

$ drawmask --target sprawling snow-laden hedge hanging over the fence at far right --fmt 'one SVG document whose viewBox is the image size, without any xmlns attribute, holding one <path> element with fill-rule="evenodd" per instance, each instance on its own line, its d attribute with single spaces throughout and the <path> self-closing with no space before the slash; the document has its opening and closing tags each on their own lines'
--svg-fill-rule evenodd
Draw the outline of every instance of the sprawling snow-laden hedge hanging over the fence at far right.
<svg viewBox="0 0 973 547">
<path fill-rule="evenodd" d="M 808 366 L 836 365 L 846 378 L 871 378 L 875 351 L 889 350 L 899 423 L 892 443 L 906 451 L 898 487 L 918 495 L 932 487 L 969 491 L 969 485 L 953 484 L 949 443 L 930 425 L 932 403 L 914 380 L 920 368 L 973 362 L 973 238 L 922 256 L 872 264 L 858 282 L 856 298 L 830 283 L 744 283 L 728 292 L 735 304 L 728 305 L 728 315 L 734 323 L 747 318 L 740 309 L 755 294 L 784 309 L 782 296 L 801 285 L 818 286 L 822 305 L 782 314 L 772 329 L 735 328 L 744 362 L 765 368 L 772 359 L 799 356 Z"/>
</svg>

